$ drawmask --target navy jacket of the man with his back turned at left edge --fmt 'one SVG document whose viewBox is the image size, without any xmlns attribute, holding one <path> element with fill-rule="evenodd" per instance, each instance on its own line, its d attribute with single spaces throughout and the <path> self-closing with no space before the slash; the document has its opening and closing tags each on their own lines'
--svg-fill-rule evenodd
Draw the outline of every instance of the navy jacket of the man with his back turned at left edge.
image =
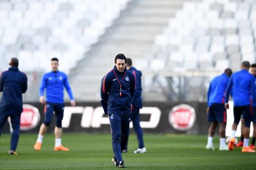
<svg viewBox="0 0 256 170">
<path fill-rule="evenodd" d="M 4 71 L 0 77 L 0 92 L 3 91 L 0 112 L 16 115 L 18 113 L 11 113 L 14 108 L 22 112 L 22 93 L 26 92 L 27 87 L 26 74 L 20 72 L 17 67 Z"/>
</svg>

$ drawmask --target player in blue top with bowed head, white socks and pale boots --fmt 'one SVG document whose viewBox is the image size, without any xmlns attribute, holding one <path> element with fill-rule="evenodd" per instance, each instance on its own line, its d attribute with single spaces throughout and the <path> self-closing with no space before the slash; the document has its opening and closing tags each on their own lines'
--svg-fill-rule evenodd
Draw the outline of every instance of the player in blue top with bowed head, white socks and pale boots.
<svg viewBox="0 0 256 170">
<path fill-rule="evenodd" d="M 225 69 L 224 73 L 220 76 L 212 79 L 208 89 L 208 108 L 207 108 L 207 120 L 211 122 L 208 132 L 208 141 L 206 149 L 215 150 L 212 140 L 215 133 L 215 129 L 220 123 L 220 147 L 219 150 L 228 150 L 225 142 L 226 134 L 226 124 L 227 124 L 227 111 L 224 105 L 225 91 L 227 88 L 227 83 L 232 75 L 232 70 L 230 68 Z"/>
</svg>

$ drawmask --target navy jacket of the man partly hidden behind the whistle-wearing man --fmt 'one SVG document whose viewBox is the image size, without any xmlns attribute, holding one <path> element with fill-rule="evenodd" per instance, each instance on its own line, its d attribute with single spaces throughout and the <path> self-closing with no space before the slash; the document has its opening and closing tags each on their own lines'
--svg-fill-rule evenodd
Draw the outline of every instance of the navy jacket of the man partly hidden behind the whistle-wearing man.
<svg viewBox="0 0 256 170">
<path fill-rule="evenodd" d="M 141 98 L 141 93 L 142 93 L 142 87 L 141 87 L 141 77 L 142 73 L 141 71 L 137 70 L 134 67 L 131 67 L 129 69 L 134 74 L 135 77 L 135 92 L 134 92 L 134 97 L 131 99 L 131 104 L 136 107 L 136 108 L 142 108 L 142 98 Z"/>
</svg>

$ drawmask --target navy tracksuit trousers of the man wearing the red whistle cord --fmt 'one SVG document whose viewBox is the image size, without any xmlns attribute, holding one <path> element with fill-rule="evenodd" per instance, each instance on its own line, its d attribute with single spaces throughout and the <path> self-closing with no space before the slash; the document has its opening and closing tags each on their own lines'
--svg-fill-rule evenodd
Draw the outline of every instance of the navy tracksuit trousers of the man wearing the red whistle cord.
<svg viewBox="0 0 256 170">
<path fill-rule="evenodd" d="M 123 161 L 122 150 L 124 150 L 125 142 L 128 139 L 130 114 L 108 114 L 111 136 L 112 149 L 114 157 L 118 162 Z"/>
</svg>

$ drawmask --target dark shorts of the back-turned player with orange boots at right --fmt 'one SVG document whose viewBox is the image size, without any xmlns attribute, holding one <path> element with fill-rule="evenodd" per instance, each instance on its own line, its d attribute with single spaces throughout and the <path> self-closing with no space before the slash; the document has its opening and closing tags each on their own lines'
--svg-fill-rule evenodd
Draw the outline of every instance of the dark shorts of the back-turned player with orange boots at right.
<svg viewBox="0 0 256 170">
<path fill-rule="evenodd" d="M 239 124 L 239 121 L 242 118 L 244 119 L 244 126 L 250 127 L 250 122 L 252 121 L 253 108 L 251 105 L 246 106 L 234 106 L 234 123 Z"/>
</svg>

